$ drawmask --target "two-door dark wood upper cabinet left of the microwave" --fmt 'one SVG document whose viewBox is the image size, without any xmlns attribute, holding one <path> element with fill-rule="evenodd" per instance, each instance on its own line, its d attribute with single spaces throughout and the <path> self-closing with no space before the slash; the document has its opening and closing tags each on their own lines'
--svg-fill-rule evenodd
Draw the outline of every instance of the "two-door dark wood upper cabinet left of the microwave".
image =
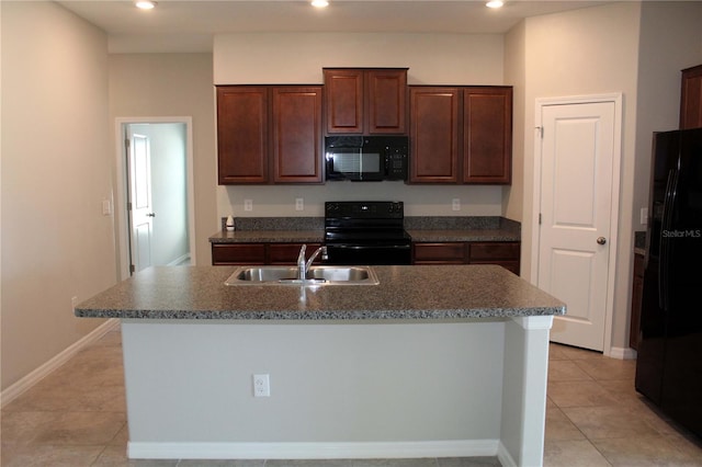
<svg viewBox="0 0 702 467">
<path fill-rule="evenodd" d="M 217 87 L 219 184 L 321 183 L 321 87 Z"/>
</svg>

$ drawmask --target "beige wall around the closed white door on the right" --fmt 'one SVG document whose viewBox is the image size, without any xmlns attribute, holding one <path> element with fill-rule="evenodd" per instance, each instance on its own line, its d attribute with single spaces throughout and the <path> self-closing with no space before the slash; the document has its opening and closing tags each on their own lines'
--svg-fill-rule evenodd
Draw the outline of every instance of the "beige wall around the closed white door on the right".
<svg viewBox="0 0 702 467">
<path fill-rule="evenodd" d="M 534 105 L 537 98 L 623 93 L 622 162 L 618 262 L 618 295 L 631 294 L 627 271 L 632 250 L 633 171 L 636 128 L 636 77 L 638 61 L 639 3 L 621 2 L 604 7 L 550 14 L 526 20 L 526 90 L 524 102 L 524 218 L 522 223 L 522 275 L 528 278 L 531 244 L 537 228 L 532 213 L 534 170 Z M 554 39 L 557 38 L 557 39 Z M 614 346 L 629 348 L 626 308 L 614 309 Z M 607 345 L 605 345 L 607 346 Z"/>
</svg>

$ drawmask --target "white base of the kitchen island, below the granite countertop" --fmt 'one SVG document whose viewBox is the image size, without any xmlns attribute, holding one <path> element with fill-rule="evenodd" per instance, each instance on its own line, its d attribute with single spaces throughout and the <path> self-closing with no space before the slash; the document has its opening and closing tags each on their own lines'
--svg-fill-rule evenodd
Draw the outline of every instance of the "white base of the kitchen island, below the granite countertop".
<svg viewBox="0 0 702 467">
<path fill-rule="evenodd" d="M 539 466 L 552 321 L 124 319 L 127 455 Z"/>
</svg>

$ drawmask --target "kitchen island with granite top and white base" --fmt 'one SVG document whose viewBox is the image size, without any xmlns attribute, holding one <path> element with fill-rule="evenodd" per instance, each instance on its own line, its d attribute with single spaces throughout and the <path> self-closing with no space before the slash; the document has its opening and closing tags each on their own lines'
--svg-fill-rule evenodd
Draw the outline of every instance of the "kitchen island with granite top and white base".
<svg viewBox="0 0 702 467">
<path fill-rule="evenodd" d="M 122 320 L 129 457 L 542 463 L 563 303 L 494 265 L 316 287 L 226 286 L 234 270 L 148 269 L 76 308 Z"/>
</svg>

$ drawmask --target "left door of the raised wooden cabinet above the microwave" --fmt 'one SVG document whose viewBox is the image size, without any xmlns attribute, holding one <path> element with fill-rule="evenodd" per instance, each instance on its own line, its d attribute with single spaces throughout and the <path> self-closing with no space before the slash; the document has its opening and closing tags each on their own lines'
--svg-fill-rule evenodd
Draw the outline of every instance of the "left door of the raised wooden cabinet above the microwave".
<svg viewBox="0 0 702 467">
<path fill-rule="evenodd" d="M 327 133 L 363 133 L 363 70 L 325 69 Z"/>
</svg>

